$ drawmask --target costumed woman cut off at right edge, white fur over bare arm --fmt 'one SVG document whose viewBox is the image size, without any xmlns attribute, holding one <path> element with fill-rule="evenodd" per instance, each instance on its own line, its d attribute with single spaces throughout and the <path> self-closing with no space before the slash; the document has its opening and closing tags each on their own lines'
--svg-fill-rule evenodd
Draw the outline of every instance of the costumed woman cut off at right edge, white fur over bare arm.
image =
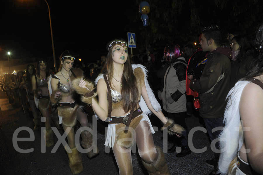
<svg viewBox="0 0 263 175">
<path fill-rule="evenodd" d="M 263 174 L 263 24 L 256 33 L 253 68 L 227 95 L 225 127 L 219 136 L 220 174 Z"/>
</svg>

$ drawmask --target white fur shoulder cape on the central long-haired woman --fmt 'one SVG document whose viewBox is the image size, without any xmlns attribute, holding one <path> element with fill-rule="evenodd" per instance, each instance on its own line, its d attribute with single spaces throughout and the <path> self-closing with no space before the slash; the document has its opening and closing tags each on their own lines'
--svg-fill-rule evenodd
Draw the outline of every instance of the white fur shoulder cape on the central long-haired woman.
<svg viewBox="0 0 263 175">
<path fill-rule="evenodd" d="M 150 88 L 150 85 L 149 85 L 149 83 L 148 83 L 148 79 L 147 79 L 147 77 L 148 77 L 148 74 L 147 74 L 147 73 L 148 73 L 148 70 L 146 69 L 146 67 L 143 66 L 143 65 L 141 65 L 141 64 L 132 64 L 131 66 L 132 66 L 133 71 L 134 71 L 134 69 L 136 69 L 136 68 L 138 68 L 138 67 L 143 70 L 143 73 L 144 73 L 144 83 L 145 83 L 145 86 L 146 86 L 146 91 L 147 91 L 147 93 L 148 93 L 148 97 L 149 97 L 149 99 L 150 99 L 151 105 L 153 106 L 153 109 L 154 109 L 155 111 L 161 111 L 161 110 L 162 110 L 162 109 L 161 109 L 161 105 L 160 105 L 160 104 L 158 103 L 158 101 L 156 100 L 155 95 L 154 95 L 154 93 L 153 93 L 153 90 Z M 100 75 L 96 78 L 95 84 L 97 84 L 97 83 L 98 83 L 98 80 L 101 79 L 101 78 L 103 78 L 103 74 L 100 74 Z M 104 78 L 103 78 L 103 79 L 104 79 Z M 143 100 L 143 97 L 142 97 L 142 96 L 141 96 L 141 101 L 139 102 L 139 105 L 141 106 L 141 110 L 142 110 L 145 114 L 147 114 L 147 115 L 152 114 L 152 112 L 151 112 L 151 111 L 149 110 L 149 108 L 147 107 L 145 101 Z"/>
</svg>

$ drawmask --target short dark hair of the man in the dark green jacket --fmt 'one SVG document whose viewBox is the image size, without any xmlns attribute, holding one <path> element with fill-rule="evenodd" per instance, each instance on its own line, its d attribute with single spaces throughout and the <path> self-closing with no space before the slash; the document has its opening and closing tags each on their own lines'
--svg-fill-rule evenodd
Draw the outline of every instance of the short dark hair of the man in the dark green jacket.
<svg viewBox="0 0 263 175">
<path fill-rule="evenodd" d="M 207 42 L 209 39 L 213 39 L 216 45 L 218 46 L 222 45 L 222 40 L 223 40 L 222 31 L 217 25 L 210 25 L 204 27 L 202 33 L 204 34 Z"/>
</svg>

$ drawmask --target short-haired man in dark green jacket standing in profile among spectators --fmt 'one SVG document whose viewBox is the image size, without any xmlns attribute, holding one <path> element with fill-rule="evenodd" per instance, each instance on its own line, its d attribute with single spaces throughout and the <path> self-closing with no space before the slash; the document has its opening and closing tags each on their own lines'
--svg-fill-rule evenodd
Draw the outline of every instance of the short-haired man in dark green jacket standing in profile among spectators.
<svg viewBox="0 0 263 175">
<path fill-rule="evenodd" d="M 199 93 L 201 105 L 199 114 L 204 119 L 211 141 L 218 137 L 223 127 L 225 98 L 230 90 L 231 49 L 222 46 L 222 39 L 224 37 L 217 25 L 203 29 L 199 44 L 203 51 L 210 53 L 207 55 L 206 65 L 200 79 L 192 79 L 190 82 L 190 88 Z M 214 151 L 215 157 L 213 160 L 206 160 L 206 163 L 216 168 L 220 152 L 216 150 L 219 149 L 219 142 L 214 142 L 211 144 L 211 149 Z"/>
</svg>

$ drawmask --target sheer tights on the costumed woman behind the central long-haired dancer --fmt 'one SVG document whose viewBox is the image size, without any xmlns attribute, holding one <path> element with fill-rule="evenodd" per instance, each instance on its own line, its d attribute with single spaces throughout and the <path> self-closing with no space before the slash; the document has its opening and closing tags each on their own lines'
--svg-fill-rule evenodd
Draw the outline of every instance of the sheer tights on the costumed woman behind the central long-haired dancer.
<svg viewBox="0 0 263 175">
<path fill-rule="evenodd" d="M 81 107 L 79 107 L 77 109 L 76 116 L 77 116 L 77 120 L 79 121 L 79 123 L 81 124 L 82 127 L 89 127 L 87 114 L 84 113 L 84 110 L 82 110 Z M 63 119 L 62 119 L 62 121 L 63 121 Z M 74 132 L 74 128 L 65 126 L 63 124 L 63 122 L 62 122 L 62 127 L 63 127 L 65 132 L 66 132 L 67 128 L 70 128 L 70 131 L 68 133 L 66 133 L 66 134 L 68 134 L 67 135 L 68 145 L 69 145 L 70 148 L 74 148 L 75 147 L 75 132 Z"/>
</svg>

